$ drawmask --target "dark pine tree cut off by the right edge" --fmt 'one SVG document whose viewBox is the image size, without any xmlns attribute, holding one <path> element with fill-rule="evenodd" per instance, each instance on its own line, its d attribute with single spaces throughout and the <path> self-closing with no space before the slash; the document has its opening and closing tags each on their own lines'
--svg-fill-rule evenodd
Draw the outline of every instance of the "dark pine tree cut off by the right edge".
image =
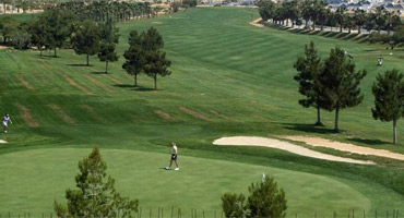
<svg viewBox="0 0 404 218">
<path fill-rule="evenodd" d="M 393 143 L 397 143 L 397 121 L 404 116 L 404 74 L 397 70 L 378 74 L 373 83 L 375 108 L 371 113 L 376 120 L 393 121 Z"/>
</svg>

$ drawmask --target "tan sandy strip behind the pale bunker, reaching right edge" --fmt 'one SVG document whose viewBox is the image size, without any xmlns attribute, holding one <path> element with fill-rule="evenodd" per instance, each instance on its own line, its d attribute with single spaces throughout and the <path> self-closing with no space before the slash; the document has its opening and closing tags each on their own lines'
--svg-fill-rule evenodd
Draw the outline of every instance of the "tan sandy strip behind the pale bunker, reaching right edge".
<svg viewBox="0 0 404 218">
<path fill-rule="evenodd" d="M 358 155 L 371 155 L 371 156 L 404 160 L 404 155 L 402 154 L 392 153 L 385 149 L 375 149 L 370 147 L 353 145 L 348 143 L 340 143 L 340 142 L 330 141 L 330 140 L 325 140 L 321 137 L 311 137 L 311 136 L 302 136 L 302 135 L 292 136 L 290 135 L 290 136 L 284 136 L 283 138 L 296 141 L 296 142 L 302 142 L 302 143 L 306 143 L 314 147 L 326 147 L 326 148 L 332 148 L 332 149 L 358 154 Z"/>
</svg>

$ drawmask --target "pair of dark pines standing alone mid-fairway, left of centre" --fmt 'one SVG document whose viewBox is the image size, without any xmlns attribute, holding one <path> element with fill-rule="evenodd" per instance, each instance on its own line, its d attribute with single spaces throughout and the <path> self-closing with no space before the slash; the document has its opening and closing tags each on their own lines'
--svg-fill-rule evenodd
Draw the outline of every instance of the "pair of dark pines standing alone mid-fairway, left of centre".
<svg viewBox="0 0 404 218">
<path fill-rule="evenodd" d="M 171 62 L 166 59 L 163 37 L 151 27 L 146 33 L 138 34 L 132 31 L 129 36 L 129 49 L 124 51 L 126 62 L 122 68 L 134 78 L 134 86 L 138 84 L 138 75 L 146 74 L 154 80 L 154 89 L 157 89 L 157 75 L 166 76 L 171 74 L 168 70 Z"/>
</svg>

